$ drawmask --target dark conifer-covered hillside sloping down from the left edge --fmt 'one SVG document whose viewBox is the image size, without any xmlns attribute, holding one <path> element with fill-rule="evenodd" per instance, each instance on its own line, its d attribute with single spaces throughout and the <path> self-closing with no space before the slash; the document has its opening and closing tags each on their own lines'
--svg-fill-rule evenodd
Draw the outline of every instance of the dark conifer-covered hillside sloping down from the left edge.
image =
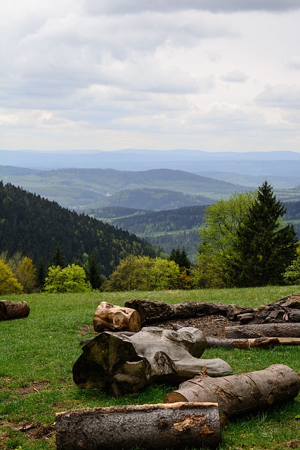
<svg viewBox="0 0 300 450">
<path fill-rule="evenodd" d="M 0 252 L 21 252 L 47 264 L 60 246 L 65 263 L 96 251 L 102 273 L 109 275 L 119 260 L 136 255 L 158 255 L 150 243 L 56 202 L 0 182 Z"/>
</svg>

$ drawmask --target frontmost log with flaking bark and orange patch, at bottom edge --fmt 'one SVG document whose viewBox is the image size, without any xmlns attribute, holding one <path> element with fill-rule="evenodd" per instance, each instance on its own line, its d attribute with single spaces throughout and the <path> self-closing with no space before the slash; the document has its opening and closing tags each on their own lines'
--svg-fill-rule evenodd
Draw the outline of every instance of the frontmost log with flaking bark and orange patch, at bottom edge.
<svg viewBox="0 0 300 450">
<path fill-rule="evenodd" d="M 56 414 L 57 450 L 182 450 L 221 443 L 218 405 L 111 406 Z"/>
</svg>

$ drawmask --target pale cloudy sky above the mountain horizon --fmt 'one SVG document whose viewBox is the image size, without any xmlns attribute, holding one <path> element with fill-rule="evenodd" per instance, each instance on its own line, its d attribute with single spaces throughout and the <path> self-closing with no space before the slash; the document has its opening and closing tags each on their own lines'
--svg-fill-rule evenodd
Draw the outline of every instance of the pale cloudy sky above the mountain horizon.
<svg viewBox="0 0 300 450">
<path fill-rule="evenodd" d="M 300 152 L 300 0 L 2 0 L 2 150 Z"/>
</svg>

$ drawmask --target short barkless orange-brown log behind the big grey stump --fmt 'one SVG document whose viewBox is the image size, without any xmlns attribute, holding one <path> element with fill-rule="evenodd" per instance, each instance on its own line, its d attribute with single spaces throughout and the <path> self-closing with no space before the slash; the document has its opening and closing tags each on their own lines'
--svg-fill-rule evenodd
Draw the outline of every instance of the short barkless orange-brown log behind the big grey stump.
<svg viewBox="0 0 300 450">
<path fill-rule="evenodd" d="M 141 317 L 136 309 L 122 308 L 108 302 L 101 302 L 93 316 L 93 329 L 100 331 L 141 330 Z"/>
</svg>

